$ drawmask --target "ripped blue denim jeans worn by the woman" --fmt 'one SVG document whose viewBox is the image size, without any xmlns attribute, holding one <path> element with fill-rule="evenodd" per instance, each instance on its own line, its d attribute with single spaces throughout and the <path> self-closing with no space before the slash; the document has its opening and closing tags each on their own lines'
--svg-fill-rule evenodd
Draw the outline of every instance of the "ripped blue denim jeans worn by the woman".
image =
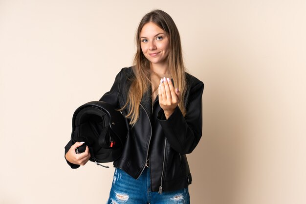
<svg viewBox="0 0 306 204">
<path fill-rule="evenodd" d="M 116 168 L 107 204 L 190 204 L 190 197 L 188 188 L 164 191 L 161 195 L 152 192 L 147 167 L 137 180 Z"/>
</svg>

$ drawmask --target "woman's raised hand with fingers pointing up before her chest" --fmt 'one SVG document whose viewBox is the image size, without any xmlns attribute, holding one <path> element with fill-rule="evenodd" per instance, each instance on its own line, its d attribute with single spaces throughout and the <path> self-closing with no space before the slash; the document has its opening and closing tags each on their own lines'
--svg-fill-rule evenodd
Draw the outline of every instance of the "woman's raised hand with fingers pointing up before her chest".
<svg viewBox="0 0 306 204">
<path fill-rule="evenodd" d="M 162 78 L 158 87 L 158 100 L 160 107 L 164 110 L 166 119 L 174 112 L 180 100 L 180 92 L 173 87 L 169 78 Z"/>
</svg>

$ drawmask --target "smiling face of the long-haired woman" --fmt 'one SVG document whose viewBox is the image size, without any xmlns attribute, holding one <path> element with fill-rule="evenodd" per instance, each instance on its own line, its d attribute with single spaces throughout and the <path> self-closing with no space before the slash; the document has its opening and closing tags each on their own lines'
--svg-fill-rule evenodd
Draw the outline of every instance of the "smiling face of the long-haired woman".
<svg viewBox="0 0 306 204">
<path fill-rule="evenodd" d="M 167 33 L 155 23 L 146 23 L 140 31 L 141 50 L 151 65 L 165 65 L 169 53 Z"/>
</svg>

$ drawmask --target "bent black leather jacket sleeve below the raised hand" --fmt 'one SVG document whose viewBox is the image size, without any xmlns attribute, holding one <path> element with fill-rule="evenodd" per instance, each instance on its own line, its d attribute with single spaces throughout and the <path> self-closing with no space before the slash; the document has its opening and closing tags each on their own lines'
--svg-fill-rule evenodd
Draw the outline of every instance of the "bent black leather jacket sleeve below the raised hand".
<svg viewBox="0 0 306 204">
<path fill-rule="evenodd" d="M 204 84 L 197 83 L 188 94 L 186 115 L 178 108 L 166 120 L 161 110 L 157 119 L 162 126 L 170 146 L 180 154 L 189 154 L 197 146 L 202 136 L 202 93 Z"/>
</svg>

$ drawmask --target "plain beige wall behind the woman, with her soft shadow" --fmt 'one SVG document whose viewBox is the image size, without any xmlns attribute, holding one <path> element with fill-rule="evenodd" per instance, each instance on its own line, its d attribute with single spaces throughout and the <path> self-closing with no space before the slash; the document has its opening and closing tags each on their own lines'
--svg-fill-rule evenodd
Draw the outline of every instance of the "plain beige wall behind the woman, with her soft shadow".
<svg viewBox="0 0 306 204">
<path fill-rule="evenodd" d="M 205 84 L 192 204 L 306 203 L 305 0 L 0 0 L 0 204 L 106 202 L 114 169 L 72 170 L 64 146 L 154 8 Z"/>
</svg>

